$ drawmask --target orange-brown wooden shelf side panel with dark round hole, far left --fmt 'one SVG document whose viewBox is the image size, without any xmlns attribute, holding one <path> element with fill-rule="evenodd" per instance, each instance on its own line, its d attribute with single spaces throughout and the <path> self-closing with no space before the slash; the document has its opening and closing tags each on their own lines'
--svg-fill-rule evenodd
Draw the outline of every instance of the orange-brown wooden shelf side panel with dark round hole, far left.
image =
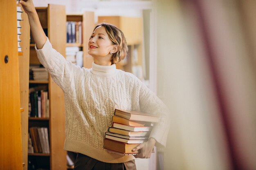
<svg viewBox="0 0 256 170">
<path fill-rule="evenodd" d="M 0 5 L 0 169 L 22 170 L 16 1 Z"/>
</svg>

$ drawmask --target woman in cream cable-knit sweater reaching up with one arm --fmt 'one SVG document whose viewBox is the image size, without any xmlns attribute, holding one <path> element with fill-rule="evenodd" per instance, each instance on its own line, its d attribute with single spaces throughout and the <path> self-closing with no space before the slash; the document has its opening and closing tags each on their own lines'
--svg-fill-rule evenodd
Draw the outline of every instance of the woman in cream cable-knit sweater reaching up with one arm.
<svg viewBox="0 0 256 170">
<path fill-rule="evenodd" d="M 168 119 L 164 104 L 131 73 L 116 69 L 128 51 L 124 34 L 111 24 L 95 27 L 88 43 L 94 62 L 91 69 L 80 68 L 52 49 L 40 25 L 32 0 L 19 2 L 29 18 L 40 62 L 63 89 L 66 112 L 64 149 L 77 152 L 75 170 L 136 170 L 136 158 L 149 158 L 153 147 L 164 147 Z M 139 155 L 118 155 L 103 149 L 103 139 L 112 125 L 115 109 L 141 110 L 161 115 L 148 141 L 133 150 Z"/>
</svg>

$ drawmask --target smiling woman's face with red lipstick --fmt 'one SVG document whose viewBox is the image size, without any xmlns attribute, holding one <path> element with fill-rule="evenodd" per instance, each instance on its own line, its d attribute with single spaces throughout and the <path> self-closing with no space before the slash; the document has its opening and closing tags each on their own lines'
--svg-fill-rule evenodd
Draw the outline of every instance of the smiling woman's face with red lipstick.
<svg viewBox="0 0 256 170">
<path fill-rule="evenodd" d="M 99 26 L 93 31 L 88 42 L 88 54 L 92 57 L 111 57 L 110 51 L 114 46 L 105 27 Z"/>
</svg>

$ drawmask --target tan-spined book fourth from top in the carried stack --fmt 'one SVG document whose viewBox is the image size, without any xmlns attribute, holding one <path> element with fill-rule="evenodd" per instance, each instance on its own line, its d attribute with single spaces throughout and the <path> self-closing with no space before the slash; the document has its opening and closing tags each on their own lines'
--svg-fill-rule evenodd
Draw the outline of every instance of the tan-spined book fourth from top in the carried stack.
<svg viewBox="0 0 256 170">
<path fill-rule="evenodd" d="M 119 134 L 119 135 L 125 135 L 127 137 L 143 137 L 143 136 L 149 136 L 150 135 L 150 131 L 133 132 L 133 131 L 113 128 L 113 127 L 108 128 L 108 131 L 112 132 L 112 133 L 115 133 L 115 134 Z"/>
</svg>

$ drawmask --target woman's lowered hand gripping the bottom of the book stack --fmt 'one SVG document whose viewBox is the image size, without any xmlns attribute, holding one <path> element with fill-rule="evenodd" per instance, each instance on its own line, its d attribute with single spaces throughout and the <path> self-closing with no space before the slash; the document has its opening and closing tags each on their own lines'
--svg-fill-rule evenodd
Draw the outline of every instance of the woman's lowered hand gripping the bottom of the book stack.
<svg viewBox="0 0 256 170">
<path fill-rule="evenodd" d="M 138 155 L 134 155 L 135 158 L 150 158 L 152 150 L 155 146 L 155 139 L 149 138 L 148 141 L 143 142 L 139 146 L 132 149 L 132 151 L 140 150 Z"/>
</svg>

